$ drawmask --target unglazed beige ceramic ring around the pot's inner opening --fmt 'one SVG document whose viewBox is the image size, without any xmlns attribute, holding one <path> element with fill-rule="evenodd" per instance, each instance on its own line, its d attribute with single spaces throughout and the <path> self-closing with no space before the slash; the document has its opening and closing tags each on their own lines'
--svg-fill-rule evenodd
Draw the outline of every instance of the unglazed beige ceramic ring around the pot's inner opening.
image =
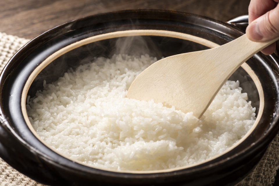
<svg viewBox="0 0 279 186">
<path fill-rule="evenodd" d="M 27 92 L 28 92 L 32 82 L 34 81 L 35 77 L 42 71 L 42 69 L 44 67 L 46 67 L 48 64 L 50 64 L 52 61 L 54 61 L 55 59 L 57 59 L 61 55 L 69 52 L 70 50 L 73 50 L 73 49 L 78 48 L 80 46 L 83 46 L 83 45 L 86 45 L 86 44 L 89 44 L 89 43 L 92 43 L 92 42 L 104 40 L 104 39 L 111 39 L 111 38 L 116 38 L 116 37 L 127 37 L 127 36 L 143 36 L 143 35 L 174 37 L 174 38 L 178 38 L 178 39 L 184 39 L 184 40 L 193 41 L 193 42 L 202 44 L 204 46 L 208 46 L 210 48 L 214 48 L 214 47 L 219 46 L 218 44 L 213 43 L 212 41 L 208 41 L 208 40 L 200 38 L 200 37 L 196 37 L 196 36 L 193 36 L 193 35 L 189 35 L 189 34 L 185 34 L 185 33 L 180 33 L 180 32 L 173 32 L 173 31 L 167 31 L 167 30 L 124 30 L 124 31 L 110 32 L 110 33 L 106 33 L 106 34 L 101 34 L 101 35 L 96 35 L 96 36 L 88 37 L 88 38 L 83 39 L 81 41 L 77 41 L 77 42 L 75 42 L 73 44 L 70 44 L 70 45 L 68 45 L 68 46 L 66 46 L 64 48 L 61 48 L 60 50 L 56 51 L 55 53 L 53 53 L 52 55 L 47 57 L 47 59 L 45 59 L 39 66 L 37 66 L 37 68 L 31 73 L 30 77 L 26 81 L 26 84 L 24 85 L 24 89 L 23 89 L 22 97 L 21 97 L 21 107 L 22 107 L 22 113 L 23 113 L 23 116 L 24 116 L 24 120 L 25 120 L 27 126 L 29 127 L 29 129 L 31 130 L 31 132 L 44 145 L 46 145 L 52 151 L 55 151 L 57 154 L 65 157 L 63 154 L 61 154 L 58 151 L 56 151 L 56 149 L 54 149 L 53 147 L 50 147 L 46 142 L 44 142 L 44 140 L 42 140 L 40 138 L 40 136 L 36 133 L 35 129 L 33 128 L 31 122 L 28 119 L 28 115 L 27 115 L 27 111 L 26 111 Z M 183 166 L 183 167 L 172 168 L 172 169 L 156 170 L 156 171 L 117 171 L 117 170 L 110 170 L 110 169 L 94 167 L 94 166 L 91 166 L 91 165 L 87 165 L 87 164 L 85 164 L 83 162 L 70 159 L 68 157 L 65 157 L 65 158 L 70 159 L 70 160 L 72 160 L 74 162 L 80 163 L 82 165 L 88 166 L 88 167 L 93 167 L 93 168 L 101 169 L 101 170 L 105 170 L 105 171 L 137 173 L 137 174 L 150 174 L 150 173 L 160 173 L 160 172 L 171 172 L 171 171 L 176 171 L 176 170 L 181 170 L 181 169 L 193 167 L 193 166 L 202 164 L 204 162 L 208 162 L 208 161 L 210 161 L 210 160 L 212 160 L 214 158 L 217 158 L 217 157 L 219 157 L 219 156 L 221 156 L 223 154 L 226 154 L 228 151 L 230 151 L 231 149 L 233 149 L 234 147 L 239 145 L 242 141 L 244 141 L 251 134 L 251 132 L 257 126 L 257 123 L 259 122 L 259 120 L 260 120 L 260 118 L 262 116 L 262 112 L 263 112 L 264 97 L 263 97 L 263 89 L 262 89 L 261 83 L 260 83 L 259 79 L 257 78 L 257 76 L 255 75 L 254 71 L 246 63 L 242 64 L 241 66 L 251 76 L 252 80 L 255 82 L 255 85 L 257 87 L 257 90 L 258 90 L 259 96 L 260 96 L 260 108 L 259 108 L 259 112 L 258 112 L 257 118 L 255 120 L 255 123 L 253 124 L 251 129 L 248 131 L 248 133 L 246 133 L 246 135 L 243 138 L 241 138 L 235 145 L 231 146 L 230 148 L 228 148 L 223 153 L 218 154 L 218 155 L 216 155 L 216 156 L 214 156 L 212 158 L 209 158 L 209 159 L 207 159 L 207 160 L 205 160 L 203 162 L 199 162 L 199 163 L 196 163 L 196 164 L 187 165 L 187 166 Z"/>
</svg>

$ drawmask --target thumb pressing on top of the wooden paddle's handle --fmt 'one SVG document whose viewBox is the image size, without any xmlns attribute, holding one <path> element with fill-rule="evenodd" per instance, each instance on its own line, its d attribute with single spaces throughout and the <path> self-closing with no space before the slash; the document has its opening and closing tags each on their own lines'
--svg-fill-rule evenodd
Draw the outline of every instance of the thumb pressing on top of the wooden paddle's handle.
<svg viewBox="0 0 279 186">
<path fill-rule="evenodd" d="M 252 21 L 246 28 L 251 41 L 269 41 L 279 37 L 279 6 Z"/>
</svg>

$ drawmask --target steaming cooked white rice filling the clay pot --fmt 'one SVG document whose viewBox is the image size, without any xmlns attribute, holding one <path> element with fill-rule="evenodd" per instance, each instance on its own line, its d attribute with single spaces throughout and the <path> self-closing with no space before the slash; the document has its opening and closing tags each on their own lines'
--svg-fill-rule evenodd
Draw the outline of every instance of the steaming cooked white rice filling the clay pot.
<svg viewBox="0 0 279 186">
<path fill-rule="evenodd" d="M 198 120 L 161 103 L 126 98 L 156 58 L 114 55 L 70 70 L 27 100 L 48 145 L 75 161 L 113 170 L 160 170 L 201 162 L 235 144 L 255 121 L 239 82 L 227 81 Z"/>
</svg>

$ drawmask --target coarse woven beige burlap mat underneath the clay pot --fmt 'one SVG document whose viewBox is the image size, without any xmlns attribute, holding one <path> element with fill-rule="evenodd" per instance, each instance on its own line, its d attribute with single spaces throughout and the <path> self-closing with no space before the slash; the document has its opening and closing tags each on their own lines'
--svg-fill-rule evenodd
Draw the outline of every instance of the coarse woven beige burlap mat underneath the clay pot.
<svg viewBox="0 0 279 186">
<path fill-rule="evenodd" d="M 0 72 L 4 65 L 28 39 L 7 35 L 0 32 Z M 279 134 L 269 145 L 267 152 L 257 167 L 238 186 L 272 185 L 279 167 Z M 0 186 L 44 186 L 31 178 L 19 173 L 0 158 Z"/>
</svg>

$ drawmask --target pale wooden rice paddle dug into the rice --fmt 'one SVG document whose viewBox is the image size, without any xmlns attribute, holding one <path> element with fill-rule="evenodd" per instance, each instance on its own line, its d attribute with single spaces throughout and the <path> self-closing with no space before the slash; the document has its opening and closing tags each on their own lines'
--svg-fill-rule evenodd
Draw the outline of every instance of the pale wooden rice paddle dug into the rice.
<svg viewBox="0 0 279 186">
<path fill-rule="evenodd" d="M 200 118 L 230 75 L 278 39 L 253 42 L 244 34 L 216 48 L 166 57 L 136 77 L 127 97 L 153 99 L 185 113 L 193 111 Z"/>
</svg>

